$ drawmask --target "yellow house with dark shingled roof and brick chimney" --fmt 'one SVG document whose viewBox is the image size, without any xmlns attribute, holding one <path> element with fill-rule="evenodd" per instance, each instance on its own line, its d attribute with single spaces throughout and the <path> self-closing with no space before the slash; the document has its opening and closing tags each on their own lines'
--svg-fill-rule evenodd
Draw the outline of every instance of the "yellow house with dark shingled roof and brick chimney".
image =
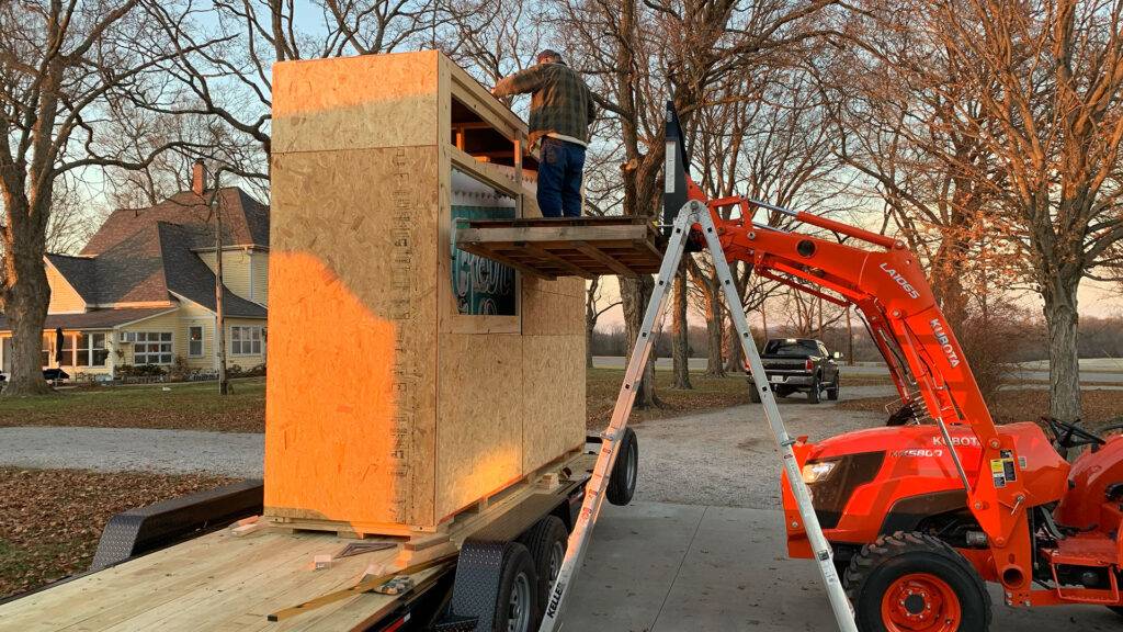
<svg viewBox="0 0 1123 632">
<path fill-rule="evenodd" d="M 48 254 L 51 304 L 44 368 L 108 378 L 122 365 L 214 372 L 214 222 L 197 165 L 191 191 L 145 209 L 115 211 L 76 256 Z M 222 308 L 227 365 L 265 363 L 270 210 L 238 188 L 218 192 L 222 210 Z M 57 329 L 63 331 L 62 345 Z M 7 373 L 11 331 L 0 317 Z M 57 358 L 61 355 L 62 360 Z"/>
</svg>

